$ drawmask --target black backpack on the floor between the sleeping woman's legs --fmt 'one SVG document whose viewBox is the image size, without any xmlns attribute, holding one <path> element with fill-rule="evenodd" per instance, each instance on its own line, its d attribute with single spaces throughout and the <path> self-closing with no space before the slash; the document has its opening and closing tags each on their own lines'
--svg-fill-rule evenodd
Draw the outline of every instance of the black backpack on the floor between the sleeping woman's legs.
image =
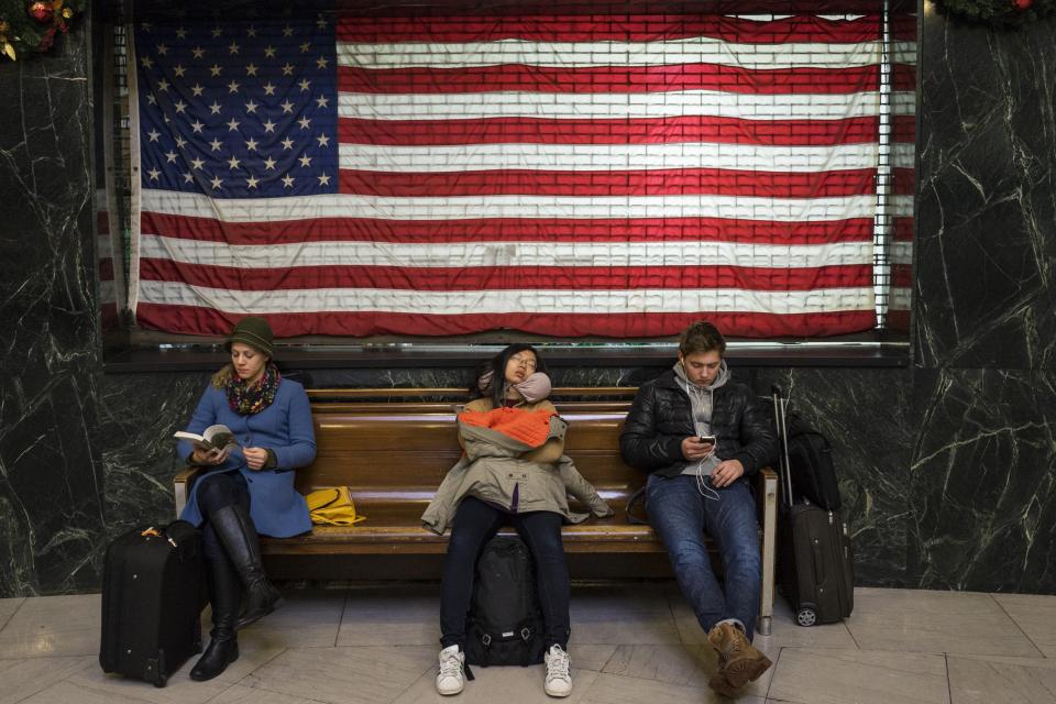
<svg viewBox="0 0 1056 704">
<path fill-rule="evenodd" d="M 492 538 L 476 562 L 465 629 L 465 661 L 539 664 L 546 642 L 531 552 L 519 538 Z"/>
</svg>

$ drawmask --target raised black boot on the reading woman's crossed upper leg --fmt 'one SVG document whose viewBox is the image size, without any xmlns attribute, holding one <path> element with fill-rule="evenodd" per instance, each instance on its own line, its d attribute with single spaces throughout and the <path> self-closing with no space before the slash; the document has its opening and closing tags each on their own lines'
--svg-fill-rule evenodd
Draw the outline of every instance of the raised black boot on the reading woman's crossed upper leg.
<svg viewBox="0 0 1056 704">
<path fill-rule="evenodd" d="M 240 630 L 275 610 L 282 595 L 264 574 L 261 541 L 249 509 L 239 504 L 224 506 L 209 514 L 209 522 L 245 585 L 245 606 L 234 624 L 234 629 Z"/>
</svg>

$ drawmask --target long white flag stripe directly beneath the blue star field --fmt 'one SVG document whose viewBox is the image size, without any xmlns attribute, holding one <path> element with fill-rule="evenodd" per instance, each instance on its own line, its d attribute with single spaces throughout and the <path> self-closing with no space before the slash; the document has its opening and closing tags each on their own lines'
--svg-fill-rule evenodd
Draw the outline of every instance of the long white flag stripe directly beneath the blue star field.
<svg viewBox="0 0 1056 704">
<path fill-rule="evenodd" d="M 903 197 L 904 198 L 904 197 Z M 897 200 L 892 198 L 891 200 Z M 912 208 L 912 198 L 910 197 Z M 815 222 L 872 218 L 876 196 L 755 198 L 748 196 L 462 196 L 385 198 L 327 194 L 289 198 L 219 199 L 201 194 L 143 189 L 143 210 L 221 222 L 276 222 L 309 218 L 471 220 L 479 218 L 736 218 Z M 912 210 L 911 210 L 912 212 Z"/>
</svg>

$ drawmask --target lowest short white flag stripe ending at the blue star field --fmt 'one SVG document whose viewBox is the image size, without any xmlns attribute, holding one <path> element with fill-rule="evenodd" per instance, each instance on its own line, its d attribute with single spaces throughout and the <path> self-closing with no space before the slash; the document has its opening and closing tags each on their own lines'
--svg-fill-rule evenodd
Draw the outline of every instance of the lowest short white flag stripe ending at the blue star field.
<svg viewBox="0 0 1056 704">
<path fill-rule="evenodd" d="M 912 152 L 912 145 L 904 146 Z M 805 173 L 876 168 L 879 155 L 880 147 L 876 142 L 834 146 L 765 146 L 721 142 L 455 146 L 341 144 L 339 163 L 341 168 L 414 173 L 501 168 L 571 172 L 733 168 Z"/>
</svg>

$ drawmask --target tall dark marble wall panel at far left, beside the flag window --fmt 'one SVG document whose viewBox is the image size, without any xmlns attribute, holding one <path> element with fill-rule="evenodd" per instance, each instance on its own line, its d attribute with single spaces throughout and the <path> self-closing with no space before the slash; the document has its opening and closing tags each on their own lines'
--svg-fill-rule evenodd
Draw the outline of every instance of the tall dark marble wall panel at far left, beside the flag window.
<svg viewBox="0 0 1056 704">
<path fill-rule="evenodd" d="M 99 582 L 88 44 L 0 62 L 0 597 Z"/>
</svg>

